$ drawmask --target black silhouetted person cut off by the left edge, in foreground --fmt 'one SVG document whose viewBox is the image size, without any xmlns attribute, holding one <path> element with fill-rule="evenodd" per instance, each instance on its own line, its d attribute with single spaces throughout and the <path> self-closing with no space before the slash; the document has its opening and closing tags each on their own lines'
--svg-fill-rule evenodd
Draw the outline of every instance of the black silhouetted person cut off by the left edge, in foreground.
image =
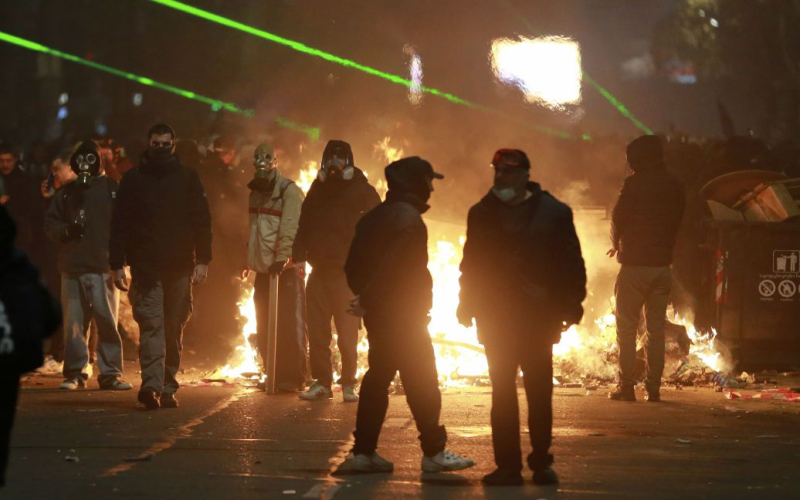
<svg viewBox="0 0 800 500">
<path fill-rule="evenodd" d="M 27 256 L 14 248 L 16 226 L 0 206 L 0 487 L 5 484 L 19 377 L 42 365 L 43 342 L 58 329 L 61 308 Z"/>
</svg>

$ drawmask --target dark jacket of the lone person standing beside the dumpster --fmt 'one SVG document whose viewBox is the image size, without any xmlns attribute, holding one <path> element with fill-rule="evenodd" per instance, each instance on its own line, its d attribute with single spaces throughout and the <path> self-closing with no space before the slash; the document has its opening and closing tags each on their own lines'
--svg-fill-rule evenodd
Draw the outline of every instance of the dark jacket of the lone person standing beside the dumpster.
<svg viewBox="0 0 800 500">
<path fill-rule="evenodd" d="M 622 185 L 611 216 L 617 260 L 630 266 L 669 266 L 686 204 L 681 183 L 663 166 L 637 171 Z"/>
</svg>

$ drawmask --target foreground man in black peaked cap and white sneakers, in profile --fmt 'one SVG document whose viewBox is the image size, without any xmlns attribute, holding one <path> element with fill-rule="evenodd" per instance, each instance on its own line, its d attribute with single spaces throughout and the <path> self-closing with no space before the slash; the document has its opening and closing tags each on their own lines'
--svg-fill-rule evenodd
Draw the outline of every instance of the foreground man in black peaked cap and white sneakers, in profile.
<svg viewBox="0 0 800 500">
<path fill-rule="evenodd" d="M 417 156 L 393 162 L 386 167 L 386 201 L 356 225 L 345 272 L 356 295 L 351 311 L 363 316 L 367 327 L 369 369 L 361 384 L 352 453 L 337 474 L 394 470 L 376 450 L 389 406 L 389 386 L 398 371 L 420 433 L 423 472 L 475 465 L 445 449 L 447 432 L 439 423 L 442 396 L 427 329 L 433 280 L 427 267 L 428 230 L 421 214 L 430 208 L 433 180 L 442 178 Z"/>
</svg>

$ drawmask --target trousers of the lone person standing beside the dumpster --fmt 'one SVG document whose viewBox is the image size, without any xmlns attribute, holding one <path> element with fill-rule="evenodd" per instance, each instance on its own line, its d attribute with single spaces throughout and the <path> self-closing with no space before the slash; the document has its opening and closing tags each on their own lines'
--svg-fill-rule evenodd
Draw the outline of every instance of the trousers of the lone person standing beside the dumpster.
<svg viewBox="0 0 800 500">
<path fill-rule="evenodd" d="M 617 344 L 619 345 L 619 382 L 622 387 L 636 383 L 636 332 L 644 309 L 647 334 L 644 338 L 647 356 L 645 384 L 657 391 L 664 373 L 664 323 L 672 287 L 669 267 L 623 265 L 614 285 Z"/>
</svg>

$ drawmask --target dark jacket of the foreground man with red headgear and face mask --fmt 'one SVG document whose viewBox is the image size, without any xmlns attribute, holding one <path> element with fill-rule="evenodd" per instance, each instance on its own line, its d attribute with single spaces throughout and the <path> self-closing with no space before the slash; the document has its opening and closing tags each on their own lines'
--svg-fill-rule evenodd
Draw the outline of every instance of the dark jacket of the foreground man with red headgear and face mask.
<svg viewBox="0 0 800 500">
<path fill-rule="evenodd" d="M 492 334 L 542 327 L 557 335 L 562 321 L 583 316 L 586 268 L 572 210 L 539 184 L 528 190 L 532 196 L 517 206 L 490 191 L 469 211 L 460 299 L 482 341 L 482 326 Z"/>
</svg>

